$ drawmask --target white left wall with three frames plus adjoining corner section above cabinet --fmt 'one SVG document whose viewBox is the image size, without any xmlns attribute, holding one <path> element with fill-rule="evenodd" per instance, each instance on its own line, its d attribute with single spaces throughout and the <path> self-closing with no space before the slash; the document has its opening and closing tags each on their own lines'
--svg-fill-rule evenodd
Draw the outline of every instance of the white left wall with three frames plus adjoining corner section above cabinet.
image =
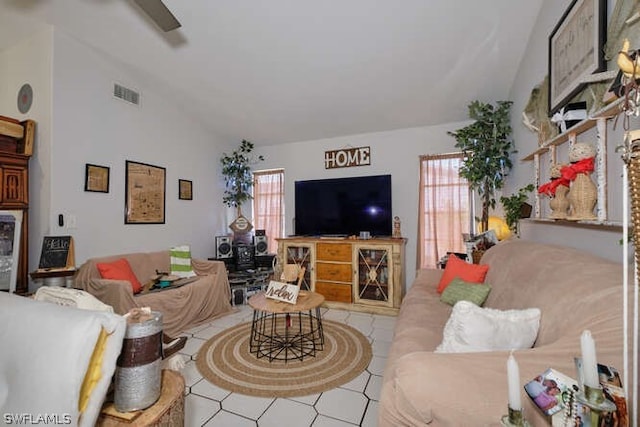
<svg viewBox="0 0 640 427">
<path fill-rule="evenodd" d="M 76 264 L 93 256 L 161 250 L 187 243 L 214 255 L 213 236 L 228 230 L 219 157 L 223 141 L 173 105 L 145 76 L 58 31 L 0 53 L 3 114 L 37 122 L 30 164 L 30 267 L 44 235 L 74 237 Z M 15 96 L 29 82 L 34 104 L 18 113 Z M 113 83 L 138 90 L 141 107 L 112 97 Z M 227 144 L 227 145 L 225 145 Z M 166 168 L 166 222 L 124 224 L 125 161 Z M 110 191 L 84 191 L 85 165 L 111 169 Z M 178 200 L 178 179 L 193 181 L 193 200 Z M 58 215 L 76 227 L 58 226 Z"/>
</svg>

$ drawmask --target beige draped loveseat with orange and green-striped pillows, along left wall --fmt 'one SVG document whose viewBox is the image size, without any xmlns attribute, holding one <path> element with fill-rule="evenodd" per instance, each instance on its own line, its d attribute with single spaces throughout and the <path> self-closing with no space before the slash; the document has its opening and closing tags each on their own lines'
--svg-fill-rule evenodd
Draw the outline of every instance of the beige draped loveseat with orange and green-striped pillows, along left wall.
<svg viewBox="0 0 640 427">
<path fill-rule="evenodd" d="M 156 271 L 170 270 L 169 251 L 92 258 L 78 270 L 75 287 L 112 306 L 118 314 L 125 314 L 135 307 L 151 307 L 162 312 L 163 332 L 172 337 L 232 311 L 229 280 L 221 261 L 192 259 L 193 271 L 200 276 L 198 280 L 175 289 L 143 291 L 134 295 L 128 281 L 102 279 L 96 267 L 97 263 L 120 258 L 129 261 L 133 273 L 143 285 L 156 275 Z"/>
</svg>

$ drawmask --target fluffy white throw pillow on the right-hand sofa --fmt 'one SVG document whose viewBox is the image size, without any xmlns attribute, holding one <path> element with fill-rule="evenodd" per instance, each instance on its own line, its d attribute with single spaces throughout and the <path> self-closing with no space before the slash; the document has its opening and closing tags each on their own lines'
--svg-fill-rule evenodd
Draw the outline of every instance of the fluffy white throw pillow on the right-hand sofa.
<svg viewBox="0 0 640 427">
<path fill-rule="evenodd" d="M 540 309 L 496 310 L 469 301 L 453 306 L 436 353 L 531 348 L 540 327 Z"/>
</svg>

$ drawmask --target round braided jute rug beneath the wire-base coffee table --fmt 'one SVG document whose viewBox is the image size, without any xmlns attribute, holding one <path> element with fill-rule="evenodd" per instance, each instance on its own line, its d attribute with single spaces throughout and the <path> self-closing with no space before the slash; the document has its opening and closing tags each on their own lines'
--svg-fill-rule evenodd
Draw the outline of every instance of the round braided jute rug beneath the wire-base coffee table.
<svg viewBox="0 0 640 427">
<path fill-rule="evenodd" d="M 303 361 L 269 362 L 249 353 L 251 323 L 231 327 L 202 345 L 196 366 L 218 387 L 259 397 L 321 393 L 345 384 L 371 361 L 371 344 L 351 326 L 322 321 L 324 350 Z"/>
</svg>

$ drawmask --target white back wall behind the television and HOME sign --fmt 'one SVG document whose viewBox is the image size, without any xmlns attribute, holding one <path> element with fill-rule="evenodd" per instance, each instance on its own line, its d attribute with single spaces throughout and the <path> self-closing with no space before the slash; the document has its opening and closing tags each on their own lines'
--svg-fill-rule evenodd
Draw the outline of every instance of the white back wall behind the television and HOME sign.
<svg viewBox="0 0 640 427">
<path fill-rule="evenodd" d="M 416 236 L 420 162 L 423 154 L 456 151 L 447 131 L 465 123 L 445 126 L 400 129 L 315 141 L 257 147 L 265 156 L 260 168 L 285 170 L 286 234 L 293 232 L 294 182 L 306 179 L 391 174 L 393 215 L 400 217 L 406 246 L 405 277 L 410 286 L 416 270 Z M 324 152 L 345 147 L 371 147 L 371 165 L 342 169 L 325 169 Z"/>
</svg>

